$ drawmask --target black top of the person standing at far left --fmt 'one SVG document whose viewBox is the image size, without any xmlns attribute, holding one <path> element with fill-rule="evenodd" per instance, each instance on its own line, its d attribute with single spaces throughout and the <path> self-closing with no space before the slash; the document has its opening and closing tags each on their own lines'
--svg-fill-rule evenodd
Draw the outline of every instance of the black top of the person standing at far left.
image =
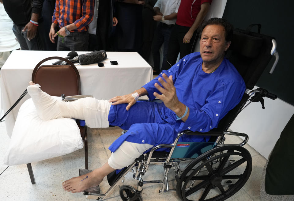
<svg viewBox="0 0 294 201">
<path fill-rule="evenodd" d="M 43 0 L 3 0 L 3 6 L 10 19 L 17 26 L 25 26 L 32 13 L 41 17 Z"/>
</svg>

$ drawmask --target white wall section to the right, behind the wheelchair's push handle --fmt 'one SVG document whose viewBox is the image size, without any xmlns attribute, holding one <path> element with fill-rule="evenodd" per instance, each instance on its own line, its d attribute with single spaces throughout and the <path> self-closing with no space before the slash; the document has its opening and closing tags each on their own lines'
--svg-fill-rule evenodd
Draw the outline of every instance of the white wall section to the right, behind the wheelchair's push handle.
<svg viewBox="0 0 294 201">
<path fill-rule="evenodd" d="M 258 88 L 257 86 L 254 89 Z M 264 98 L 265 109 L 260 102 L 249 104 L 235 119 L 230 129 L 246 133 L 248 144 L 262 156 L 268 158 L 289 119 L 294 113 L 294 106 L 277 98 Z"/>
</svg>

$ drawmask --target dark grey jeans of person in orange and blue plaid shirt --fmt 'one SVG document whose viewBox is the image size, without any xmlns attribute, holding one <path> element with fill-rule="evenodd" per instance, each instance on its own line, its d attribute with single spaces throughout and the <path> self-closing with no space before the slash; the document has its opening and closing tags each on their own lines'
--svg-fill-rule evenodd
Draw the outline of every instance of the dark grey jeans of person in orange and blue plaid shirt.
<svg viewBox="0 0 294 201">
<path fill-rule="evenodd" d="M 88 31 L 70 32 L 69 36 L 64 36 L 63 38 L 58 36 L 57 51 L 88 51 L 88 44 Z"/>
</svg>

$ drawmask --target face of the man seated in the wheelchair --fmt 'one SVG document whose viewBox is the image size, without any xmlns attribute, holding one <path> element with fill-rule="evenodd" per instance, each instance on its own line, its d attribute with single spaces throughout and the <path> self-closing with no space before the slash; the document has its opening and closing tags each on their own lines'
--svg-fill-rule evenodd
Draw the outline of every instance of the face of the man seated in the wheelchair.
<svg viewBox="0 0 294 201">
<path fill-rule="evenodd" d="M 218 63 L 224 58 L 231 41 L 225 40 L 225 29 L 221 25 L 207 25 L 201 34 L 200 55 L 203 62 Z"/>
</svg>

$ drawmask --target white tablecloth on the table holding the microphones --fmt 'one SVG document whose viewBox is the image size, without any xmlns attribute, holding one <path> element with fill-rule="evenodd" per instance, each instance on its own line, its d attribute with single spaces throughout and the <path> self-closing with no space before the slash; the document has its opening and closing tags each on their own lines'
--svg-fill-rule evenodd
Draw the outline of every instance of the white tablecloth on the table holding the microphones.
<svg viewBox="0 0 294 201">
<path fill-rule="evenodd" d="M 68 51 L 20 51 L 11 53 L 1 69 L 1 108 L 6 112 L 21 96 L 31 81 L 32 72 L 37 63 L 51 56 L 66 57 Z M 79 55 L 87 52 L 77 52 Z M 50 60 L 44 64 L 51 64 Z M 117 61 L 118 65 L 111 65 Z M 107 52 L 104 67 L 97 63 L 90 65 L 75 64 L 81 77 L 81 91 L 84 95 L 93 95 L 97 99 L 108 100 L 133 92 L 153 78 L 151 66 L 137 52 Z M 27 94 L 6 118 L 6 131 L 11 137 L 12 129 L 21 104 L 27 100 Z"/>
</svg>

